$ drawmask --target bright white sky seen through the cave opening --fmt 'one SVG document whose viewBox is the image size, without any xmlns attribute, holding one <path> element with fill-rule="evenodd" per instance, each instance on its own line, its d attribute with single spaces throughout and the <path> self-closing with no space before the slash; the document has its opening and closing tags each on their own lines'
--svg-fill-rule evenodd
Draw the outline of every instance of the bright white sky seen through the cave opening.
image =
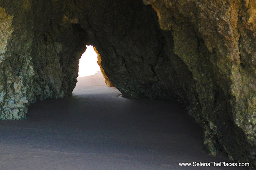
<svg viewBox="0 0 256 170">
<path fill-rule="evenodd" d="M 86 46 L 86 51 L 79 60 L 78 77 L 91 76 L 100 71 L 97 54 L 93 46 Z"/>
</svg>

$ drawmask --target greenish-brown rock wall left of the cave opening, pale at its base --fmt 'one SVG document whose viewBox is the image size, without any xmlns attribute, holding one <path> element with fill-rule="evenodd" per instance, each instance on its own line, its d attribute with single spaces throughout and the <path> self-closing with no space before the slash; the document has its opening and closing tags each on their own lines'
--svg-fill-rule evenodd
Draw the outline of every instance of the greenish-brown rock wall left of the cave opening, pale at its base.
<svg viewBox="0 0 256 170">
<path fill-rule="evenodd" d="M 0 2 L 0 118 L 24 119 L 29 103 L 72 94 L 86 42 L 68 1 Z"/>
</svg>

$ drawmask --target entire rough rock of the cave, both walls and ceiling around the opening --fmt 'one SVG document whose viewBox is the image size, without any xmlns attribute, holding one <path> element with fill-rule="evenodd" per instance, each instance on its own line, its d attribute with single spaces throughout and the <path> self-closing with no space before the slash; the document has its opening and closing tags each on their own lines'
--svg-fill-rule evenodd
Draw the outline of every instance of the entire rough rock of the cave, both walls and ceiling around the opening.
<svg viewBox="0 0 256 170">
<path fill-rule="evenodd" d="M 188 106 L 209 154 L 255 168 L 254 1 L 0 0 L 0 36 L 0 119 L 71 95 L 93 45 L 124 97 Z"/>
</svg>

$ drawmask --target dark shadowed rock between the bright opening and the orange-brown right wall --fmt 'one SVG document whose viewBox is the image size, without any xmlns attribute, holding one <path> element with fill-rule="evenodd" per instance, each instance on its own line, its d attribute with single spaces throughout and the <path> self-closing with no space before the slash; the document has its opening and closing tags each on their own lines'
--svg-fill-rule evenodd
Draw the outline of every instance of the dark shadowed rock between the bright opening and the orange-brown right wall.
<svg viewBox="0 0 256 170">
<path fill-rule="evenodd" d="M 159 76 L 159 80 L 158 75 L 161 71 L 165 72 L 162 69 L 172 69 L 170 65 L 173 61 L 170 59 L 180 59 L 177 56 L 168 56 L 167 53 L 172 53 L 172 47 L 168 47 L 164 31 L 160 30 L 156 14 L 150 6 L 145 6 L 140 1 L 105 1 L 82 6 L 86 9 L 78 12 L 86 10 L 88 16 L 81 15 L 81 27 L 88 32 L 90 44 L 93 44 L 102 55 L 101 64 L 106 74 L 123 96 L 175 98 L 174 89 L 170 92 L 169 85 L 164 86 L 167 84 L 166 81 L 170 80 L 166 80 L 165 76 Z M 172 39 L 168 32 L 166 36 Z M 161 58 L 158 60 L 159 56 Z M 156 67 L 160 69 L 155 69 Z M 189 74 L 186 66 L 183 70 Z M 166 76 L 172 78 L 176 73 L 167 74 Z M 175 82 L 178 83 L 177 80 Z M 180 86 L 179 83 L 173 82 L 172 86 L 175 85 Z M 182 98 L 183 89 L 179 91 Z"/>
</svg>

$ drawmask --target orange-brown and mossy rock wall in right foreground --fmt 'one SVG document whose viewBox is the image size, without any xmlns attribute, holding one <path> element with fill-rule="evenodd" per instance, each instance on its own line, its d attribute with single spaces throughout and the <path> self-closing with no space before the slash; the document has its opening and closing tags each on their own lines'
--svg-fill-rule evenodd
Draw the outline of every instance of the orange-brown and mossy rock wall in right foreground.
<svg viewBox="0 0 256 170">
<path fill-rule="evenodd" d="M 202 112 L 191 114 L 202 116 L 206 150 L 255 165 L 255 1 L 144 2 L 172 32 L 174 53 L 196 81 Z"/>
</svg>

